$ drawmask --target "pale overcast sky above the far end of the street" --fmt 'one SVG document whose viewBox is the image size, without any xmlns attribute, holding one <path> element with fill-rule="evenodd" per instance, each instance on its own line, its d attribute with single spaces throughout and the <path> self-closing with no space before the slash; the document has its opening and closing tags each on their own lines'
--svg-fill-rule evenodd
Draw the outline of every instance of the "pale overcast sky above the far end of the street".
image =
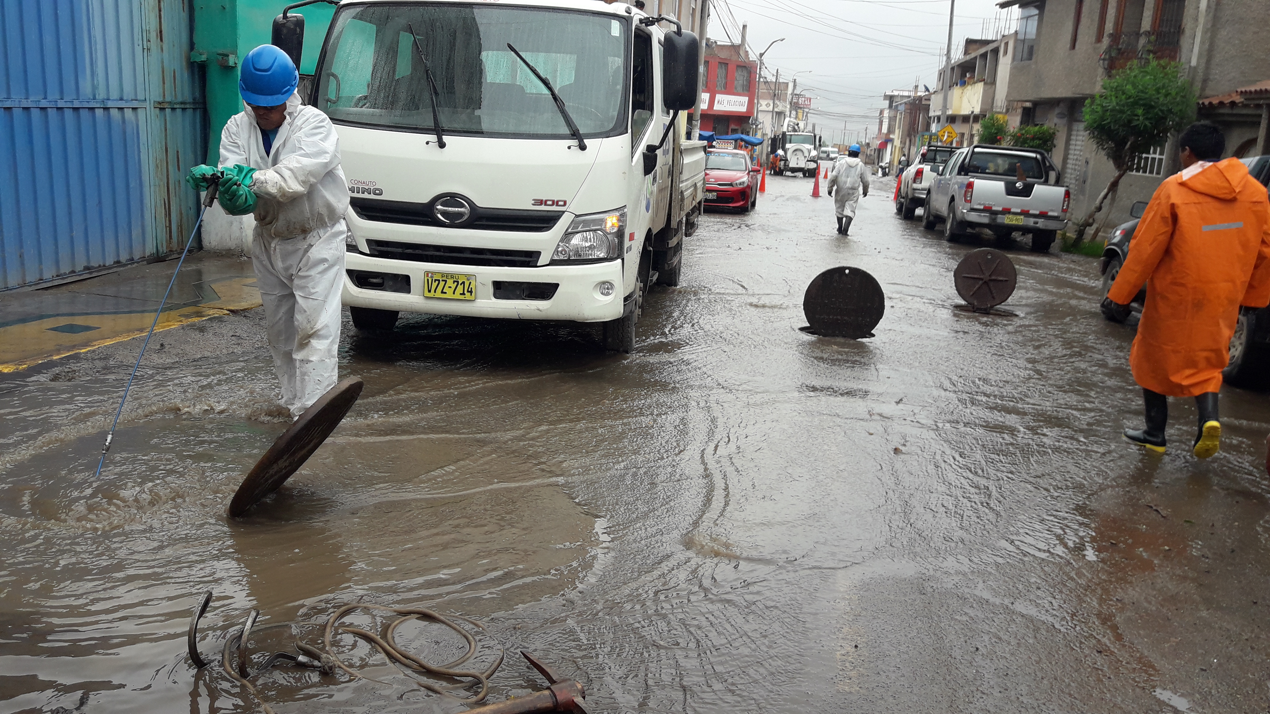
<svg viewBox="0 0 1270 714">
<path fill-rule="evenodd" d="M 952 55 L 966 37 L 992 37 L 1011 24 L 1017 9 L 997 0 L 956 0 Z M 763 58 L 763 75 L 798 74 L 799 90 L 812 93 L 812 121 L 827 138 L 841 140 L 842 123 L 859 133 L 876 131 L 883 93 L 933 85 L 947 42 L 949 0 L 710 0 L 711 39 L 747 44 L 757 60 L 767 43 L 784 37 Z M 987 32 L 984 33 L 984 23 Z M 993 29 L 996 28 L 996 30 Z M 1007 30 L 1008 32 L 1008 30 Z"/>
</svg>

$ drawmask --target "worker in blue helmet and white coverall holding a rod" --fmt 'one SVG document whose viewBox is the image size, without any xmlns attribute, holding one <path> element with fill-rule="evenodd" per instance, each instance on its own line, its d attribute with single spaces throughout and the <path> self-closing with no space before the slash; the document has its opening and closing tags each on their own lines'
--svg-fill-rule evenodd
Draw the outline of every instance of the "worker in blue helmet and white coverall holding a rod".
<svg viewBox="0 0 1270 714">
<path fill-rule="evenodd" d="M 221 132 L 221 168 L 194 166 L 187 180 L 218 180 L 227 213 L 255 216 L 251 263 L 282 405 L 296 419 L 337 381 L 348 187 L 335 127 L 300 103 L 287 53 L 262 44 L 239 76 L 246 111 Z"/>
</svg>

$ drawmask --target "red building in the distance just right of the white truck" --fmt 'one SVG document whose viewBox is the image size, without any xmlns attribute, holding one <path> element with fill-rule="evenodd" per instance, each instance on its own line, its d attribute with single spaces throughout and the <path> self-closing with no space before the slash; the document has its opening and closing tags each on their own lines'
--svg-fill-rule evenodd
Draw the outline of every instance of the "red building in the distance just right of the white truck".
<svg viewBox="0 0 1270 714">
<path fill-rule="evenodd" d="M 716 135 L 753 133 L 758 65 L 739 44 L 706 41 L 701 67 L 701 130 Z"/>
</svg>

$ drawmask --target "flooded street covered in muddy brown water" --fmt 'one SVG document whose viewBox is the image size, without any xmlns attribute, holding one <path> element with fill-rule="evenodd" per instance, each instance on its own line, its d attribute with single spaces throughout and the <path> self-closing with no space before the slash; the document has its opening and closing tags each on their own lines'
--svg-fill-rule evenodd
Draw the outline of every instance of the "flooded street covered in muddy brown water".
<svg viewBox="0 0 1270 714">
<path fill-rule="evenodd" d="M 632 356 L 588 325 L 345 320 L 361 400 L 243 521 L 225 504 L 286 426 L 259 310 L 156 338 L 97 482 L 137 340 L 0 375 L 0 711 L 259 711 L 184 656 L 208 588 L 220 633 L 258 607 L 318 642 L 349 601 L 475 617 L 597 711 L 1266 711 L 1266 395 L 1223 390 L 1214 459 L 1185 400 L 1143 454 L 1096 260 L 1021 241 L 1015 316 L 968 314 L 974 245 L 900 221 L 885 183 L 839 238 L 810 185 L 707 215 Z M 842 264 L 886 292 L 871 339 L 799 332 Z M 281 670 L 260 697 L 466 710 L 342 643 L 382 684 Z M 542 686 L 511 658 L 491 684 Z"/>
</svg>

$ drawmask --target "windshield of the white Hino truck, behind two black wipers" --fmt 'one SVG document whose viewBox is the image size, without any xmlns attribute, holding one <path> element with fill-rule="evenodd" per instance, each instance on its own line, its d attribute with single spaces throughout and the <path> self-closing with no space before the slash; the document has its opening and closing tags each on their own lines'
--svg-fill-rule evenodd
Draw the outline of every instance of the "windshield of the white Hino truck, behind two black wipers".
<svg viewBox="0 0 1270 714">
<path fill-rule="evenodd" d="M 331 22 L 315 104 L 331 121 L 433 131 L 428 79 L 409 25 L 437 81 L 446 135 L 572 138 L 547 89 L 564 99 L 583 136 L 625 133 L 624 18 L 461 4 L 370 4 Z"/>
</svg>

